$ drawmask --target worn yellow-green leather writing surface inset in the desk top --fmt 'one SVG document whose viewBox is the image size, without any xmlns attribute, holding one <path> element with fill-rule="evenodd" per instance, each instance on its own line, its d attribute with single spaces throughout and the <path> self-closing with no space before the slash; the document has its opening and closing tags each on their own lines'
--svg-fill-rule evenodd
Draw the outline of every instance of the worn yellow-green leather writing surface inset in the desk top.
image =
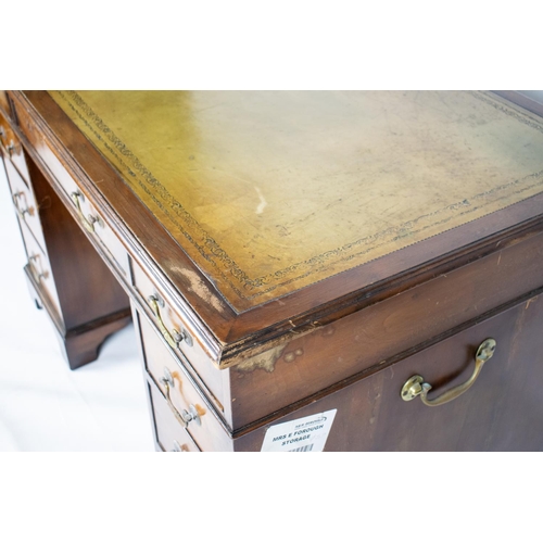
<svg viewBox="0 0 543 543">
<path fill-rule="evenodd" d="M 543 191 L 487 92 L 50 94 L 238 311 Z"/>
</svg>

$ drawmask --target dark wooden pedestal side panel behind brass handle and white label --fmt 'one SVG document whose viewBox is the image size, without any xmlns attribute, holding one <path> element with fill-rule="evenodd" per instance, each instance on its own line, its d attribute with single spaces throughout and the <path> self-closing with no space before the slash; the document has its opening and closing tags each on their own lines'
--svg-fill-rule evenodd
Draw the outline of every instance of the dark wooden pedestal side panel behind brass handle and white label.
<svg viewBox="0 0 543 543">
<path fill-rule="evenodd" d="M 433 402 L 465 384 L 489 338 L 496 342 L 493 356 L 467 390 L 442 405 L 426 405 L 420 395 L 402 399 L 415 376 L 431 386 L 427 400 Z M 325 451 L 543 451 L 542 352 L 543 294 L 274 425 L 337 409 Z M 238 439 L 236 451 L 260 451 L 269 426 Z"/>
</svg>

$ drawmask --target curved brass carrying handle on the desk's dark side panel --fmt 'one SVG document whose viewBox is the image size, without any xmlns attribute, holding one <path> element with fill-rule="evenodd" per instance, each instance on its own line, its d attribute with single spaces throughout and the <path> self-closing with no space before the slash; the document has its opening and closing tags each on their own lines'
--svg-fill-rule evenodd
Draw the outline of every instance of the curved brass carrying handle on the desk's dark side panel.
<svg viewBox="0 0 543 543">
<path fill-rule="evenodd" d="M 432 389 L 431 384 L 425 382 L 424 377 L 419 375 L 414 375 L 402 387 L 401 396 L 405 402 L 409 402 L 414 397 L 420 395 L 420 400 L 425 405 L 433 407 L 435 405 L 443 405 L 452 400 L 455 400 L 459 395 L 464 394 L 476 381 L 481 372 L 483 364 L 492 358 L 494 351 L 496 349 L 496 342 L 492 338 L 484 340 L 477 350 L 476 353 L 476 364 L 473 372 L 471 377 L 464 383 L 454 387 L 451 390 L 447 390 L 441 396 L 435 397 L 434 400 L 428 400 L 428 392 Z"/>
</svg>

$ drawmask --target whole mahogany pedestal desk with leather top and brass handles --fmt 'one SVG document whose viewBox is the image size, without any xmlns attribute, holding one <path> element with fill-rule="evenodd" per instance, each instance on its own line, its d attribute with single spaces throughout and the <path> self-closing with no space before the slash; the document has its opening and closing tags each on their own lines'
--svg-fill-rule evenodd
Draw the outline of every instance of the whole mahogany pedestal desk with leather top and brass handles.
<svg viewBox="0 0 543 543">
<path fill-rule="evenodd" d="M 543 449 L 543 108 L 0 93 L 70 367 L 130 319 L 159 450 Z"/>
</svg>

